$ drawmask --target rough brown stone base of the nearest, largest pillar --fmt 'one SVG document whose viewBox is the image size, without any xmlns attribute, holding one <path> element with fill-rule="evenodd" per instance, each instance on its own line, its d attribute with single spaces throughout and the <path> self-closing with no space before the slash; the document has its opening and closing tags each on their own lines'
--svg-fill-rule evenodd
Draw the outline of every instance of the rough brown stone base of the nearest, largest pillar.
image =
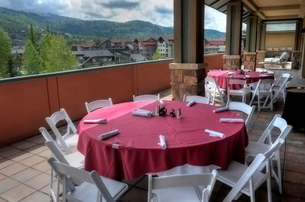
<svg viewBox="0 0 305 202">
<path fill-rule="evenodd" d="M 170 84 L 173 100 L 183 100 L 183 96 L 205 96 L 205 64 L 171 63 Z"/>
</svg>

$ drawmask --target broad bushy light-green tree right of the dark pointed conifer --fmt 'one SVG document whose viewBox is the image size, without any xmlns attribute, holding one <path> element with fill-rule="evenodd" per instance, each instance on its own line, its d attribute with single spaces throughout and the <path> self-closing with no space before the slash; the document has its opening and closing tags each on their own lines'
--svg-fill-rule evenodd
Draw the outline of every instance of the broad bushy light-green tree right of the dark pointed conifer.
<svg viewBox="0 0 305 202">
<path fill-rule="evenodd" d="M 43 72 L 50 73 L 75 69 L 78 67 L 70 46 L 64 37 L 46 34 L 40 41 Z"/>
</svg>

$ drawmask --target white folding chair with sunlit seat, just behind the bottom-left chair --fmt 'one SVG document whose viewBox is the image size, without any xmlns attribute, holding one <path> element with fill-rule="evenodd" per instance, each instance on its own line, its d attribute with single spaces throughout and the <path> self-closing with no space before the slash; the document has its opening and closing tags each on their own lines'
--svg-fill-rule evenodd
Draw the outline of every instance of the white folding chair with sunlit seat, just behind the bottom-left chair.
<svg viewBox="0 0 305 202">
<path fill-rule="evenodd" d="M 82 169 L 84 167 L 84 155 L 81 152 L 74 152 L 72 154 L 65 155 L 61 149 L 58 147 L 56 142 L 52 140 L 48 140 L 45 142 L 48 146 L 52 154 L 56 157 L 59 162 L 62 162 L 67 165 L 71 165 L 77 169 Z M 82 181 L 78 179 L 74 179 L 77 184 L 81 184 Z M 52 197 L 53 201 L 58 202 L 59 200 L 59 180 L 57 178 L 57 193 L 53 190 L 53 168 L 51 167 L 50 173 L 50 196 Z"/>
</svg>

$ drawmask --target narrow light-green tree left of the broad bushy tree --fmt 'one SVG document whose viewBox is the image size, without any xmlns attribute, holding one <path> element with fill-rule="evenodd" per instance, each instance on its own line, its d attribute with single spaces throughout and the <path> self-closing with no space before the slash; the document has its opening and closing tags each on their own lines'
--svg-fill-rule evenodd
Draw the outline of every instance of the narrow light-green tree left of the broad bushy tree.
<svg viewBox="0 0 305 202">
<path fill-rule="evenodd" d="M 41 62 L 37 49 L 31 40 L 27 40 L 24 50 L 24 70 L 27 74 L 41 73 Z"/>
</svg>

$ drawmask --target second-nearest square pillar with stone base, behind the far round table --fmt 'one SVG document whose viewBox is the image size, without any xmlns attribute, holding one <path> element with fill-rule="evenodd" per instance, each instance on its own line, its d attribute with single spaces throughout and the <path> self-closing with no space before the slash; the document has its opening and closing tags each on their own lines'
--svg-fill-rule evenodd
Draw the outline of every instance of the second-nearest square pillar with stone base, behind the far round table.
<svg viewBox="0 0 305 202">
<path fill-rule="evenodd" d="M 238 70 L 242 66 L 241 34 L 242 34 L 242 2 L 227 3 L 226 52 L 224 69 Z"/>
</svg>

